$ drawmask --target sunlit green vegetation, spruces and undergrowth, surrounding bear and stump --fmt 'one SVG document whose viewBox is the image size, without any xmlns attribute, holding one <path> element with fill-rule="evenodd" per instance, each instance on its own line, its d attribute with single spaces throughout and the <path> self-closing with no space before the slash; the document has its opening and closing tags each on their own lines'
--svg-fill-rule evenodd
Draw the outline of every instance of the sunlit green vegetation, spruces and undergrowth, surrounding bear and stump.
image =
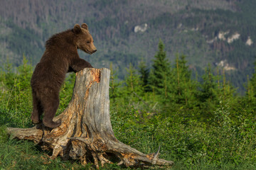
<svg viewBox="0 0 256 170">
<path fill-rule="evenodd" d="M 256 72 L 245 77 L 241 96 L 223 68 L 208 64 L 202 75 L 195 74 L 186 55 L 166 57 L 162 40 L 151 63 L 130 63 L 122 81 L 110 64 L 110 115 L 117 139 L 145 154 L 160 145 L 160 157 L 175 162 L 170 169 L 256 169 Z M 25 55 L 20 66 L 6 62 L 1 68 L 0 169 L 93 169 L 92 163 L 51 160 L 51 153 L 33 142 L 7 135 L 6 127 L 33 126 L 32 73 Z M 75 74 L 67 74 L 58 114 L 68 106 L 74 82 Z M 109 164 L 100 169 L 128 168 Z"/>
</svg>

